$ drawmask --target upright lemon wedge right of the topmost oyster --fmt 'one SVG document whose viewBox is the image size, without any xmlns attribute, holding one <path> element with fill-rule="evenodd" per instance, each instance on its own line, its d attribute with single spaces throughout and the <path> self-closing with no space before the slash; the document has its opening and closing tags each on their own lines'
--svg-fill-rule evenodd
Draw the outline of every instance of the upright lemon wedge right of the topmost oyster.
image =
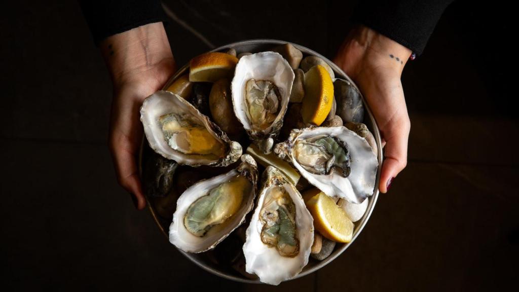
<svg viewBox="0 0 519 292">
<path fill-rule="evenodd" d="M 315 65 L 305 73 L 305 97 L 301 108 L 303 122 L 320 126 L 332 110 L 333 82 L 330 73 Z"/>
</svg>

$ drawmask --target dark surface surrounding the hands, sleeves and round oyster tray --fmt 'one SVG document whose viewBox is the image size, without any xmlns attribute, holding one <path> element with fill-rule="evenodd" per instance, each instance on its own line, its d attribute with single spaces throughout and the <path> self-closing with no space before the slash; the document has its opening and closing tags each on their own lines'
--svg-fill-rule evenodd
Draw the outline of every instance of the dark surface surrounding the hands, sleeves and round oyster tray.
<svg viewBox="0 0 519 292">
<path fill-rule="evenodd" d="M 263 1 L 245 10 L 235 2 L 187 3 L 166 5 L 215 46 L 276 38 L 330 59 L 354 6 Z M 511 7 L 472 3 L 449 6 L 424 54 L 404 69 L 412 123 L 407 168 L 344 254 L 278 287 L 234 283 L 201 270 L 163 237 L 147 210 L 133 208 L 117 185 L 106 142 L 110 77 L 78 4 L 9 4 L 0 23 L 2 286 L 510 287 L 519 260 L 517 33 Z M 166 30 L 179 67 L 211 49 L 179 22 L 171 20 Z"/>
</svg>

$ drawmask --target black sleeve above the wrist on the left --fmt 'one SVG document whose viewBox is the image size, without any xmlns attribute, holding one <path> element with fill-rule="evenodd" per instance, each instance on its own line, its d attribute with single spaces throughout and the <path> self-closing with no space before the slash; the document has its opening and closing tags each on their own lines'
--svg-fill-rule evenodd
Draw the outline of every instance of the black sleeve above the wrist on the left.
<svg viewBox="0 0 519 292">
<path fill-rule="evenodd" d="M 163 21 L 159 0 L 79 0 L 95 45 L 106 37 L 138 26 Z"/>
</svg>

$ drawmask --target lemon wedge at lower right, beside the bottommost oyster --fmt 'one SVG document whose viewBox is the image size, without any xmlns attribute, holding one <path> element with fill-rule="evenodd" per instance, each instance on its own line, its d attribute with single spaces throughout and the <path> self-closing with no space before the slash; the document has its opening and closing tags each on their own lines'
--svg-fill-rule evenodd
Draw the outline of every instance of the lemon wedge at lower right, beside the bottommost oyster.
<svg viewBox="0 0 519 292">
<path fill-rule="evenodd" d="M 353 222 L 333 198 L 316 189 L 304 193 L 303 200 L 313 217 L 313 227 L 324 237 L 335 242 L 350 242 Z"/>
</svg>

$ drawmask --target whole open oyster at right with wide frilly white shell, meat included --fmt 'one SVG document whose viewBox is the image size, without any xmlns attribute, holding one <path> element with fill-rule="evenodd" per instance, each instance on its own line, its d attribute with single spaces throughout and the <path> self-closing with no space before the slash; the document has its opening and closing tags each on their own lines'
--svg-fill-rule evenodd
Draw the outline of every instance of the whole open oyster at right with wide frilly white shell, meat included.
<svg viewBox="0 0 519 292">
<path fill-rule="evenodd" d="M 274 152 L 326 195 L 360 204 L 373 194 L 377 157 L 344 126 L 294 129 Z"/>
</svg>

